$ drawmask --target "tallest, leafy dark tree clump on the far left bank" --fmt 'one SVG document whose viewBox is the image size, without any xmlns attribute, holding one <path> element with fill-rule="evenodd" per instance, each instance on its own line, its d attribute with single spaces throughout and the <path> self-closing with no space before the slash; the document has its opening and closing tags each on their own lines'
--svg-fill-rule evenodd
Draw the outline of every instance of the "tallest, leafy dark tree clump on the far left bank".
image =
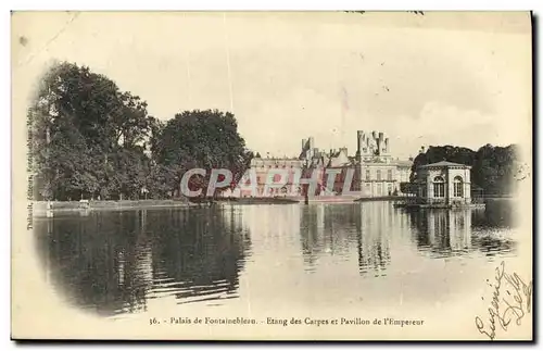
<svg viewBox="0 0 543 351">
<path fill-rule="evenodd" d="M 50 67 L 28 110 L 38 190 L 48 200 L 135 197 L 153 120 L 147 103 L 74 63 Z"/>
</svg>

